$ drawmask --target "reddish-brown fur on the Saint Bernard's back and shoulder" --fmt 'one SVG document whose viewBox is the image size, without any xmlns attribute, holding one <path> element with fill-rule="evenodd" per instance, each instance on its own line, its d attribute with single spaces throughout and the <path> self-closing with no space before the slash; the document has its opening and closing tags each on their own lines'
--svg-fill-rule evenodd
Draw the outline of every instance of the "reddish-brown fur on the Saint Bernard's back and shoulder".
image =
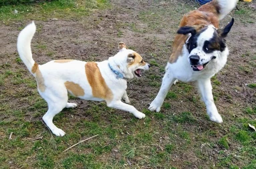
<svg viewBox="0 0 256 169">
<path fill-rule="evenodd" d="M 179 27 L 193 26 L 195 27 L 197 32 L 210 24 L 213 24 L 215 28 L 219 28 L 219 10 L 220 7 L 218 5 L 218 2 L 216 0 L 213 0 L 210 3 L 202 5 L 198 10 L 194 10 L 189 12 L 188 14 L 185 14 L 179 24 Z M 187 35 L 176 35 L 172 45 L 172 53 L 169 57 L 170 63 L 175 63 L 177 61 L 187 38 Z"/>
</svg>

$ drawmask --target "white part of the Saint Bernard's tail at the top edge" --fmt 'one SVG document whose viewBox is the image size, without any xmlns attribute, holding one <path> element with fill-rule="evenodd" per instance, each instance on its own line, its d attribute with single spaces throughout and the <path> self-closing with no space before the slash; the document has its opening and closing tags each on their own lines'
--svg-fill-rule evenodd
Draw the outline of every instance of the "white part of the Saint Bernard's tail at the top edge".
<svg viewBox="0 0 256 169">
<path fill-rule="evenodd" d="M 220 7 L 219 18 L 221 20 L 236 7 L 238 0 L 217 0 L 217 2 Z"/>
</svg>

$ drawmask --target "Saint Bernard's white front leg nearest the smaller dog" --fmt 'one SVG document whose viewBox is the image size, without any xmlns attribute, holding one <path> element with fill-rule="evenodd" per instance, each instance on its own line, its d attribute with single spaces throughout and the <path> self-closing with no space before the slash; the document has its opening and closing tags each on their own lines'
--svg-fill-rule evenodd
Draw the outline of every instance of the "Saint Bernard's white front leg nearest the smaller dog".
<svg viewBox="0 0 256 169">
<path fill-rule="evenodd" d="M 166 70 L 166 73 L 164 74 L 164 77 L 162 80 L 161 88 L 160 88 L 157 96 L 155 97 L 155 99 L 151 102 L 151 104 L 148 107 L 148 109 L 150 111 L 157 111 L 157 112 L 160 111 L 163 101 L 164 101 L 171 85 L 173 84 L 173 82 L 175 80 L 176 79 L 173 78 L 172 73 L 169 72 L 168 70 Z"/>
</svg>

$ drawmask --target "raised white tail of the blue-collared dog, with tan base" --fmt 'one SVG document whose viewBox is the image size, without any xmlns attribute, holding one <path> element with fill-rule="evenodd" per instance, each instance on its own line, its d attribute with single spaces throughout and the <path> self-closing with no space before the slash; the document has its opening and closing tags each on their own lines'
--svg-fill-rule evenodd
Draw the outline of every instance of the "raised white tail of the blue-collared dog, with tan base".
<svg viewBox="0 0 256 169">
<path fill-rule="evenodd" d="M 29 72 L 35 76 L 35 71 L 38 68 L 37 63 L 32 58 L 32 52 L 30 43 L 35 34 L 36 27 L 34 22 L 27 25 L 18 36 L 17 40 L 17 49 L 20 56 L 20 59 L 24 62 Z"/>
</svg>

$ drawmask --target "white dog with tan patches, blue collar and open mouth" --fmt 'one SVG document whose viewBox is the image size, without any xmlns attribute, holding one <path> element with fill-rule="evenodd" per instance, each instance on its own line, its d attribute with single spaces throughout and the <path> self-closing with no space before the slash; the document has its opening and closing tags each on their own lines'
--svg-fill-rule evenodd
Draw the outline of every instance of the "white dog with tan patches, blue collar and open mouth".
<svg viewBox="0 0 256 169">
<path fill-rule="evenodd" d="M 34 22 L 26 26 L 18 36 L 17 49 L 21 60 L 36 79 L 38 92 L 48 104 L 48 111 L 42 119 L 53 134 L 66 134 L 53 124 L 54 115 L 65 107 L 77 106 L 76 103 L 68 102 L 68 93 L 86 100 L 105 100 L 109 107 L 128 111 L 140 119 L 145 117 L 145 114 L 126 104 L 130 101 L 124 78 L 141 77 L 141 70 L 148 70 L 150 67 L 138 53 L 127 49 L 120 42 L 119 52 L 103 62 L 53 60 L 38 65 L 32 59 L 30 47 L 35 31 Z"/>
</svg>

